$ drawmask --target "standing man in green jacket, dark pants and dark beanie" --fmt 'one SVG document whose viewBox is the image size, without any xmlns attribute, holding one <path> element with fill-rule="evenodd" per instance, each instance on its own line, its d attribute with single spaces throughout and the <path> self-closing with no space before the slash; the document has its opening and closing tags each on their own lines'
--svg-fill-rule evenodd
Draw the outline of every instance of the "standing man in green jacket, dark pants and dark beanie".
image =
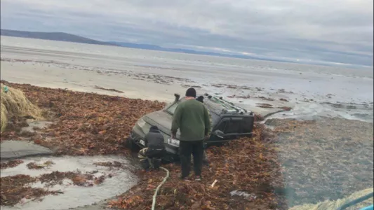
<svg viewBox="0 0 374 210">
<path fill-rule="evenodd" d="M 182 165 L 181 179 L 189 176 L 191 169 L 191 154 L 194 156 L 194 172 L 196 180 L 201 180 L 203 161 L 203 141 L 211 130 L 211 122 L 206 107 L 196 99 L 196 90 L 189 88 L 185 102 L 175 109 L 171 134 L 173 139 L 180 130 L 180 162 Z"/>
</svg>

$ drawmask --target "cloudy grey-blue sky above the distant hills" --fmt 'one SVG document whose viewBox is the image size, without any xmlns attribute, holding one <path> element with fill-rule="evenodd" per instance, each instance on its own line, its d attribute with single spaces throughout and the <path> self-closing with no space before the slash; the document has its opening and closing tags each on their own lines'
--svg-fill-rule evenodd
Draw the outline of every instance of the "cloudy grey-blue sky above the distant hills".
<svg viewBox="0 0 374 210">
<path fill-rule="evenodd" d="M 373 0 L 1 0 L 1 29 L 373 67 Z"/>
</svg>

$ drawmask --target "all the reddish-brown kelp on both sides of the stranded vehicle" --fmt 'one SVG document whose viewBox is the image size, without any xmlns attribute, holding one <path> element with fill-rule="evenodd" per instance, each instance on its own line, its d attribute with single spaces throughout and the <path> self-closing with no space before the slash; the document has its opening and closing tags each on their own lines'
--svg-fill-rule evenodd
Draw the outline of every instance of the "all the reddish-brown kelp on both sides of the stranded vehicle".
<svg viewBox="0 0 374 210">
<path fill-rule="evenodd" d="M 3 83 L 22 90 L 30 102 L 48 113 L 53 124 L 37 130 L 31 139 L 58 155 L 130 155 L 121 144 L 133 125 L 144 114 L 165 106 L 141 99 Z M 6 130 L 1 140 L 17 137 L 14 130 Z M 203 168 L 202 181 L 180 181 L 180 167 L 165 165 L 171 177 L 159 191 L 156 209 L 287 209 L 279 193 L 283 189 L 281 167 L 276 152 L 265 143 L 269 138 L 265 127 L 256 124 L 253 138 L 208 148 L 210 166 Z M 151 209 L 154 190 L 166 174 L 161 170 L 138 175 L 138 185 L 109 206 Z"/>
</svg>

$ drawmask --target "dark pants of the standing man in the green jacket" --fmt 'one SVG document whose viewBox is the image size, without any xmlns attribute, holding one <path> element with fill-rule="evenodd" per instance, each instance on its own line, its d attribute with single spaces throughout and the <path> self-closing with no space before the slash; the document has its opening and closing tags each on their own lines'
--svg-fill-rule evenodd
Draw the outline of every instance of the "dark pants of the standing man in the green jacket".
<svg viewBox="0 0 374 210">
<path fill-rule="evenodd" d="M 194 156 L 194 172 L 201 176 L 203 166 L 203 140 L 201 141 L 180 141 L 180 164 L 182 166 L 182 178 L 189 176 L 191 170 L 191 154 Z"/>
</svg>

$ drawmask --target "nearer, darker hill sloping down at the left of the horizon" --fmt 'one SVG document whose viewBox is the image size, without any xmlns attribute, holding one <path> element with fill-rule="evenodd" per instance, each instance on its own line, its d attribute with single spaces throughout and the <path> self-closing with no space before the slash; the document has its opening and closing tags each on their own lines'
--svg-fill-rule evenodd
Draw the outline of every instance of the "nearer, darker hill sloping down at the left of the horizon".
<svg viewBox="0 0 374 210">
<path fill-rule="evenodd" d="M 104 41 L 96 41 L 91 38 L 85 38 L 83 36 L 76 36 L 73 34 L 67 34 L 62 32 L 34 32 L 34 31 L 15 31 L 8 29 L 1 29 L 1 36 L 15 36 L 22 38 L 38 38 L 53 41 L 70 41 L 76 43 L 90 43 L 96 45 L 114 45 L 113 43 L 107 43 Z"/>
</svg>

